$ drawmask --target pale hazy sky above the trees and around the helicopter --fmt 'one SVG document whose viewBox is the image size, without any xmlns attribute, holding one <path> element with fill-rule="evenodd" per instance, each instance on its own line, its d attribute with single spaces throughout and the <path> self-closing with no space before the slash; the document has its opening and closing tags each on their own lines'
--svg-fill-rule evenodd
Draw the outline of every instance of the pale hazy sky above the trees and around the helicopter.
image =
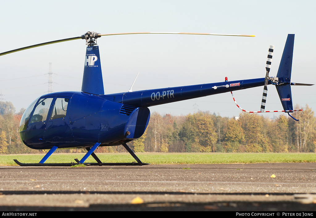
<svg viewBox="0 0 316 218">
<path fill-rule="evenodd" d="M 106 94 L 263 78 L 274 45 L 270 76 L 276 76 L 288 34 L 295 34 L 291 82 L 316 83 L 316 1 L 0 1 L 0 52 L 42 42 L 124 32 L 245 34 L 115 35 L 97 40 Z M 0 92 L 16 112 L 48 91 L 81 91 L 86 45 L 62 42 L 0 56 Z M 293 106 L 316 108 L 316 86 L 292 86 Z M 235 91 L 237 103 L 259 111 L 263 87 Z M 186 115 L 209 111 L 223 117 L 241 110 L 230 93 L 149 107 L 151 113 Z M 276 88 L 268 86 L 266 110 L 283 110 Z M 281 113 L 266 113 L 272 118 Z"/>
</svg>

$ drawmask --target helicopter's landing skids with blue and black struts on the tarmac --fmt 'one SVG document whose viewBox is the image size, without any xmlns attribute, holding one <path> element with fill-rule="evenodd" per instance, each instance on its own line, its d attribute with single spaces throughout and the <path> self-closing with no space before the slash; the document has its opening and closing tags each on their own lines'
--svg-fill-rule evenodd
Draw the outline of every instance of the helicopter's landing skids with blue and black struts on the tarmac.
<svg viewBox="0 0 316 218">
<path fill-rule="evenodd" d="M 96 143 L 92 148 L 86 148 L 87 154 L 79 161 L 77 158 L 75 158 L 76 163 L 44 163 L 45 160 L 57 149 L 57 147 L 53 147 L 46 155 L 45 157 L 40 161 L 40 163 L 21 163 L 18 160 L 14 159 L 14 162 L 20 166 L 74 166 L 78 164 L 84 164 L 87 166 L 143 166 L 148 165 L 149 163 L 143 163 L 140 161 L 140 159 L 135 155 L 135 153 L 128 147 L 127 144 L 122 144 L 125 149 L 131 154 L 131 156 L 134 157 L 134 159 L 137 161 L 132 163 L 102 163 L 100 159 L 95 155 L 93 152 L 100 144 Z M 88 156 L 92 156 L 98 163 L 83 163 Z"/>
</svg>

